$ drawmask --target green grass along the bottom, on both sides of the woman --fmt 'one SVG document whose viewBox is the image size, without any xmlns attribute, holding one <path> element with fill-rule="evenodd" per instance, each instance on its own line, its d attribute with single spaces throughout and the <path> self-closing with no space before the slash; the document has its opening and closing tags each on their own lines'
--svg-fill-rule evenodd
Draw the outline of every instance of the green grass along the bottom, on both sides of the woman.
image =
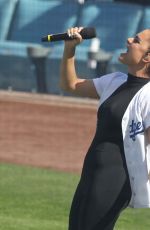
<svg viewBox="0 0 150 230">
<path fill-rule="evenodd" d="M 0 230 L 67 230 L 79 175 L 0 164 Z M 149 209 L 127 209 L 115 230 L 149 230 Z"/>
</svg>

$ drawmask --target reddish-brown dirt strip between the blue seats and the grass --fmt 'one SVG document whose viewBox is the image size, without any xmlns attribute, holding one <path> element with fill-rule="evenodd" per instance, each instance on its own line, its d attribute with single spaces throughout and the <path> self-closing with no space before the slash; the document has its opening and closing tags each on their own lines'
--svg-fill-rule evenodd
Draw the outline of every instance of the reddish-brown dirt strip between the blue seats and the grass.
<svg viewBox="0 0 150 230">
<path fill-rule="evenodd" d="M 81 171 L 98 102 L 0 91 L 0 162 Z"/>
</svg>

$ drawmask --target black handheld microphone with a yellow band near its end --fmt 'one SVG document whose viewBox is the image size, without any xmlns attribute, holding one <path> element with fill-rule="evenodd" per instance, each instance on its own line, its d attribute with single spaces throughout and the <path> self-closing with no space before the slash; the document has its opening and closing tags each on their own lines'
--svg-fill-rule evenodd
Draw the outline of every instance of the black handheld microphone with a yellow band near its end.
<svg viewBox="0 0 150 230">
<path fill-rule="evenodd" d="M 96 31 L 94 27 L 85 27 L 80 31 L 80 35 L 83 39 L 91 39 L 96 37 Z M 73 37 L 70 37 L 68 33 L 62 34 L 49 34 L 45 37 L 42 37 L 42 42 L 56 42 L 62 40 L 73 40 Z"/>
</svg>

